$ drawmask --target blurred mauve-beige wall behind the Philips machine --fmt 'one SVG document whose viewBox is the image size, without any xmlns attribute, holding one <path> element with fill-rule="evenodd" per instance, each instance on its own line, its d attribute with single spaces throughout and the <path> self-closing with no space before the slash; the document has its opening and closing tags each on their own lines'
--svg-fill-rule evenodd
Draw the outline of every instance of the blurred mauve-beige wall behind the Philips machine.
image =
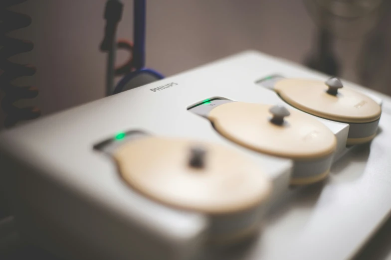
<svg viewBox="0 0 391 260">
<path fill-rule="evenodd" d="M 124 2 L 119 36 L 131 38 L 133 1 Z M 15 60 L 36 65 L 36 75 L 22 81 L 40 89 L 33 103 L 43 114 L 104 96 L 104 5 L 105 0 L 30 0 L 14 8 L 33 19 L 13 35 L 32 40 L 35 48 Z M 302 0 L 149 0 L 147 6 L 147 65 L 165 75 L 249 48 L 301 62 L 315 29 Z M 360 44 L 337 43 L 347 65 L 344 76 L 351 80 Z"/>
</svg>

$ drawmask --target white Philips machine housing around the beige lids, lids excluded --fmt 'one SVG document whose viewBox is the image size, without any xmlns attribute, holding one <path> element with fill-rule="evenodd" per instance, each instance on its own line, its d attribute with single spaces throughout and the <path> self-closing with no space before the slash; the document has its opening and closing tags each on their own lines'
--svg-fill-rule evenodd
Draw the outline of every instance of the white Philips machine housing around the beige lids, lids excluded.
<svg viewBox="0 0 391 260">
<path fill-rule="evenodd" d="M 290 107 L 274 91 L 256 84 L 275 74 L 328 78 L 246 51 L 3 131 L 1 183 L 22 234 L 73 259 L 353 257 L 391 213 L 391 99 L 345 82 L 379 104 L 383 100 L 378 136 L 370 144 L 348 149 L 349 125 L 319 119 L 337 136 L 331 176 L 323 185 L 291 189 L 292 161 L 235 144 L 187 110 L 215 97 Z M 205 251 L 207 216 L 143 197 L 123 182 L 108 156 L 93 149 L 128 130 L 220 143 L 256 160 L 274 186 L 259 237 L 235 254 Z"/>
</svg>

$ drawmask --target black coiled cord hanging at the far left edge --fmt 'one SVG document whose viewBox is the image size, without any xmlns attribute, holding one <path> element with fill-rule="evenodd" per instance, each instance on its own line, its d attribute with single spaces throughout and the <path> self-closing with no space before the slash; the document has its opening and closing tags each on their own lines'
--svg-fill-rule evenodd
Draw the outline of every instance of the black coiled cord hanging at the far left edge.
<svg viewBox="0 0 391 260">
<path fill-rule="evenodd" d="M 12 81 L 19 77 L 32 76 L 35 67 L 32 65 L 18 64 L 9 61 L 11 56 L 29 52 L 34 48 L 32 42 L 6 36 L 10 31 L 27 27 L 31 24 L 31 17 L 7 10 L 8 7 L 26 0 L 1 0 L 0 1 L 0 89 L 4 92 L 1 108 L 7 114 L 5 127 L 11 127 L 18 121 L 35 119 L 40 116 L 40 110 L 36 107 L 19 108 L 14 103 L 21 99 L 32 99 L 38 95 L 38 90 L 32 86 L 15 86 Z"/>
</svg>

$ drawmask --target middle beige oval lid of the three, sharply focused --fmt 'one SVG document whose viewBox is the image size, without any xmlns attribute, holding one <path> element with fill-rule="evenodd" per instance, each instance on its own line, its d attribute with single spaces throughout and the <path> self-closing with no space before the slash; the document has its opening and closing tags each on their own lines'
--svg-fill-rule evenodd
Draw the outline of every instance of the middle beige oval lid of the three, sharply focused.
<svg viewBox="0 0 391 260">
<path fill-rule="evenodd" d="M 334 152 L 331 130 L 301 111 L 289 110 L 282 126 L 270 122 L 272 105 L 232 102 L 210 111 L 208 118 L 226 138 L 250 149 L 293 159 L 313 159 Z"/>
</svg>

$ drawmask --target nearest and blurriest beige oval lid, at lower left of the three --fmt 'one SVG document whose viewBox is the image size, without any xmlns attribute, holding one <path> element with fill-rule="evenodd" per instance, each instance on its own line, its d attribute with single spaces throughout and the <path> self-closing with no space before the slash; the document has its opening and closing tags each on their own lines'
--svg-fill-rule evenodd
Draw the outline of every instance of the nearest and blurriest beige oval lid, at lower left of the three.
<svg viewBox="0 0 391 260">
<path fill-rule="evenodd" d="M 194 147 L 205 152 L 203 167 L 189 164 Z M 183 209 L 237 212 L 263 202 L 271 190 L 259 165 L 217 144 L 145 137 L 119 147 L 114 158 L 122 177 L 134 189 Z"/>
</svg>

